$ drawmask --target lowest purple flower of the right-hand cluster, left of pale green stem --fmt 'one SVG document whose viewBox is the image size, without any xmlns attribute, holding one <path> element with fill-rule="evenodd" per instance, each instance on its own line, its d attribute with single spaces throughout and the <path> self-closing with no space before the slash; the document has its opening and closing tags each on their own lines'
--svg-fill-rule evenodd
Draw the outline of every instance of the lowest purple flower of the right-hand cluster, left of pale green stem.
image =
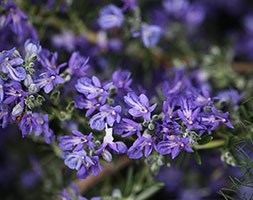
<svg viewBox="0 0 253 200">
<path fill-rule="evenodd" d="M 156 151 L 160 154 L 171 154 L 172 159 L 174 159 L 182 150 L 193 152 L 193 150 L 188 146 L 189 138 L 180 138 L 170 135 L 167 139 L 168 140 L 161 141 L 156 145 Z"/>
</svg>

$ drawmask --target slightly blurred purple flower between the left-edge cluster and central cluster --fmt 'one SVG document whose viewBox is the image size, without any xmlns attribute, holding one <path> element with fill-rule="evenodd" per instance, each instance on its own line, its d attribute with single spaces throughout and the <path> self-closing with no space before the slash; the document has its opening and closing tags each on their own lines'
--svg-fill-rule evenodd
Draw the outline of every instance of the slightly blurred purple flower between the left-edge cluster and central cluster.
<svg viewBox="0 0 253 200">
<path fill-rule="evenodd" d="M 84 76 L 86 74 L 89 65 L 89 58 L 85 58 L 80 55 L 79 52 L 73 52 L 68 63 L 68 71 L 70 74 L 75 74 L 76 76 Z"/>
</svg>

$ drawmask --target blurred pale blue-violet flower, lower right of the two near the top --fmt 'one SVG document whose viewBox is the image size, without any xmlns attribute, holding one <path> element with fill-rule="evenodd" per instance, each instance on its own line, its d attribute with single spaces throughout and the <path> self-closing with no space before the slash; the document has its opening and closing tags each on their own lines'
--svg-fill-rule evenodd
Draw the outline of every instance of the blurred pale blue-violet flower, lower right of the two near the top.
<svg viewBox="0 0 253 200">
<path fill-rule="evenodd" d="M 162 34 L 162 30 L 156 25 L 142 25 L 141 38 L 145 47 L 156 45 Z"/>
</svg>

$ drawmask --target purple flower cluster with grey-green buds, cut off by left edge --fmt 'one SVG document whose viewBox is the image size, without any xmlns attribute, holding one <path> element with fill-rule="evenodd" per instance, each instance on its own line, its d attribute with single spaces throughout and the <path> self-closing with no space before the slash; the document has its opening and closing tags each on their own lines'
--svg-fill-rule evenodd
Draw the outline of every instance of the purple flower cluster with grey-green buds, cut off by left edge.
<svg viewBox="0 0 253 200">
<path fill-rule="evenodd" d="M 47 94 L 54 85 L 65 82 L 59 76 L 59 70 L 65 64 L 58 66 L 57 54 L 42 50 L 33 40 L 25 42 L 23 53 L 24 57 L 15 48 L 0 52 L 1 127 L 17 121 L 23 137 L 44 133 L 45 141 L 51 143 L 54 134 L 48 125 L 48 115 L 37 109 L 45 100 L 40 91 L 43 89 Z"/>
</svg>

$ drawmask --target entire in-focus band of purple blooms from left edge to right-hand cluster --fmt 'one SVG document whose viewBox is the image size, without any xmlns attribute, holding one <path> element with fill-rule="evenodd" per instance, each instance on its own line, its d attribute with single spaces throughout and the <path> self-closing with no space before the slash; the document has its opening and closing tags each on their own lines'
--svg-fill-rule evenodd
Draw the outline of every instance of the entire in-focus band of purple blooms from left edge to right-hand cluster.
<svg viewBox="0 0 253 200">
<path fill-rule="evenodd" d="M 22 116 L 19 127 L 23 137 L 31 133 L 36 136 L 44 133 L 46 143 L 51 143 L 55 136 L 49 128 L 48 115 L 33 112 L 33 101 L 41 89 L 47 94 L 55 85 L 65 83 L 59 73 L 66 64 L 57 65 L 57 54 L 41 50 L 39 44 L 32 40 L 25 43 L 25 55 L 23 59 L 15 49 L 1 53 L 0 66 L 5 75 L 0 82 L 2 124 L 6 126 L 9 116 L 12 119 Z M 80 57 L 79 54 L 73 55 Z M 69 64 L 73 64 L 73 56 L 71 60 Z M 31 67 L 26 67 L 32 66 L 30 63 L 35 61 L 36 65 L 41 64 L 41 70 L 33 71 Z M 78 77 L 75 70 L 84 69 L 82 74 L 85 74 L 85 59 L 80 57 L 74 64 L 77 66 L 70 66 L 66 73 Z M 220 124 L 233 128 L 228 113 L 222 113 L 215 107 L 210 92 L 193 86 L 192 80 L 184 73 L 183 70 L 176 71 L 174 81 L 163 84 L 165 100 L 151 105 L 146 94 L 138 96 L 131 87 L 130 72 L 116 71 L 112 75 L 112 82 L 104 83 L 96 76 L 81 76 L 75 85 L 79 92 L 75 106 L 87 109 L 86 117 L 90 117 L 91 129 L 105 129 L 106 136 L 96 149 L 92 134 L 86 136 L 73 131 L 74 136 L 61 137 L 59 146 L 62 150 L 69 151 L 75 147 L 73 152 L 63 154 L 65 164 L 76 169 L 78 177 L 86 178 L 101 169 L 99 156 L 88 156 L 86 147 L 89 152 L 94 151 L 106 161 L 112 160 L 110 151 L 127 153 L 130 158 L 139 159 L 149 157 L 155 150 L 161 155 L 171 154 L 174 159 L 182 150 L 193 151 L 190 146 L 197 141 L 187 134 L 190 131 L 197 132 L 201 137 L 205 132 L 211 134 Z M 157 107 L 162 107 L 162 110 L 156 110 Z M 127 147 L 123 141 L 113 141 L 112 130 L 123 138 L 137 138 Z"/>
</svg>

